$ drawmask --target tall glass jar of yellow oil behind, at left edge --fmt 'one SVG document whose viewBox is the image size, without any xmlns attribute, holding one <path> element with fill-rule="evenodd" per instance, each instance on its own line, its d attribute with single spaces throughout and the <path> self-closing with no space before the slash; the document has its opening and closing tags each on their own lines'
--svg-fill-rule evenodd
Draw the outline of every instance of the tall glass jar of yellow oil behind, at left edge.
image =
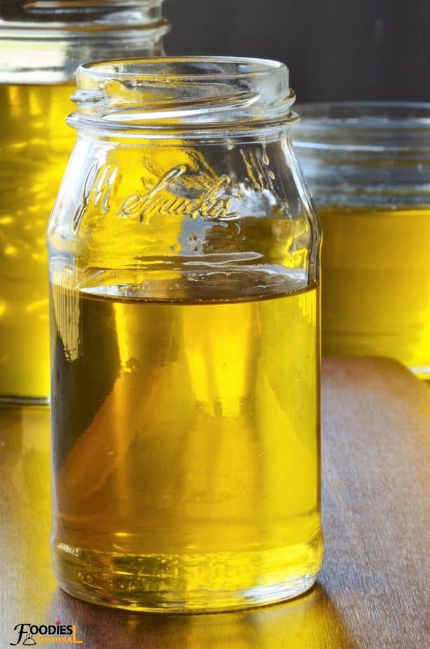
<svg viewBox="0 0 430 649">
<path fill-rule="evenodd" d="M 0 3 L 0 401 L 49 393 L 45 230 L 79 63 L 162 53 L 162 0 Z"/>
</svg>

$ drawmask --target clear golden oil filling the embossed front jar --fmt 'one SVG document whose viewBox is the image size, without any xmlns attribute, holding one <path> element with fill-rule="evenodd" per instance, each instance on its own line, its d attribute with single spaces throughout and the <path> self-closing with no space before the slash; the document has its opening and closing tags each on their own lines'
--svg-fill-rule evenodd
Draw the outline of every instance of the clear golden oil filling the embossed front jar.
<svg viewBox="0 0 430 649">
<path fill-rule="evenodd" d="M 309 588 L 322 553 L 317 289 L 210 303 L 52 291 L 62 587 L 143 610 Z"/>
</svg>

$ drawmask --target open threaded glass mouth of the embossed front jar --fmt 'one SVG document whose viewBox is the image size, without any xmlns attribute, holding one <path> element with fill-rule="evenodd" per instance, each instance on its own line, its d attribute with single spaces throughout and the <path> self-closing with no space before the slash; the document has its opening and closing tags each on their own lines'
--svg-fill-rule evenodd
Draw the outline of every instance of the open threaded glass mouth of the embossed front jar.
<svg viewBox="0 0 430 649">
<path fill-rule="evenodd" d="M 81 65 L 69 124 L 122 136 L 201 137 L 297 120 L 288 68 L 221 56 L 134 58 Z M 215 135 L 216 134 L 216 135 Z"/>
</svg>

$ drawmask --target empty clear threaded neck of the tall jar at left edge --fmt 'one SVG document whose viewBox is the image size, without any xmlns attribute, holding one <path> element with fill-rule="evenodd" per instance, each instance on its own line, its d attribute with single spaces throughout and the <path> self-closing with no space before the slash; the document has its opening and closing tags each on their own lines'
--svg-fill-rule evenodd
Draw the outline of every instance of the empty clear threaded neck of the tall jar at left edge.
<svg viewBox="0 0 430 649">
<path fill-rule="evenodd" d="M 0 83 L 73 81 L 85 61 L 163 55 L 163 0 L 6 1 Z"/>
</svg>

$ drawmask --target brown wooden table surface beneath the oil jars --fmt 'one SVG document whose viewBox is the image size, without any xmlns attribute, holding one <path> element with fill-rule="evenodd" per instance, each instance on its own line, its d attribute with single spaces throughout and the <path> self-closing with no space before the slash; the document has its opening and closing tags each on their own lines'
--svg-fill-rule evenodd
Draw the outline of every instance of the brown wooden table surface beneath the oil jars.
<svg viewBox="0 0 430 649">
<path fill-rule="evenodd" d="M 323 570 L 307 596 L 260 610 L 147 615 L 62 593 L 48 545 L 48 419 L 48 409 L 0 409 L 0 647 L 15 641 L 15 624 L 57 619 L 76 624 L 83 648 L 430 645 L 430 391 L 396 362 L 325 360 Z"/>
</svg>

